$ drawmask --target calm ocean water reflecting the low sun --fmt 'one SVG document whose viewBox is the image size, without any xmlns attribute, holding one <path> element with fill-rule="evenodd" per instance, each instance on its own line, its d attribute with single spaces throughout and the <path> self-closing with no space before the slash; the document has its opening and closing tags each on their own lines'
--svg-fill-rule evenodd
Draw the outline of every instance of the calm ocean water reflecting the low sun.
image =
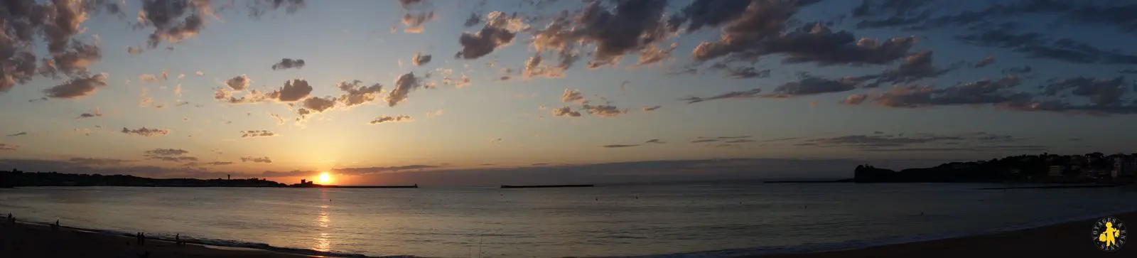
<svg viewBox="0 0 1137 258">
<path fill-rule="evenodd" d="M 418 257 L 721 257 L 840 249 L 1137 209 L 1121 189 L 681 183 L 573 189 L 0 189 L 0 213 L 111 232 Z M 1089 228 L 1087 228 L 1088 232 Z"/>
</svg>

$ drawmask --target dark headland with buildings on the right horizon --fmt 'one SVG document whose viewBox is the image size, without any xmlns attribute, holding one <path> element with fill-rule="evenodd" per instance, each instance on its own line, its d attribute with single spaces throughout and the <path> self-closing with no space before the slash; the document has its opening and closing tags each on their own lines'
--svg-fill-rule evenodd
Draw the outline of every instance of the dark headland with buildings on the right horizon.
<svg viewBox="0 0 1137 258">
<path fill-rule="evenodd" d="M 1029 155 L 948 163 L 929 168 L 899 172 L 861 165 L 854 169 L 856 183 L 1095 183 L 1124 184 L 1137 174 L 1137 153 Z"/>
</svg>

